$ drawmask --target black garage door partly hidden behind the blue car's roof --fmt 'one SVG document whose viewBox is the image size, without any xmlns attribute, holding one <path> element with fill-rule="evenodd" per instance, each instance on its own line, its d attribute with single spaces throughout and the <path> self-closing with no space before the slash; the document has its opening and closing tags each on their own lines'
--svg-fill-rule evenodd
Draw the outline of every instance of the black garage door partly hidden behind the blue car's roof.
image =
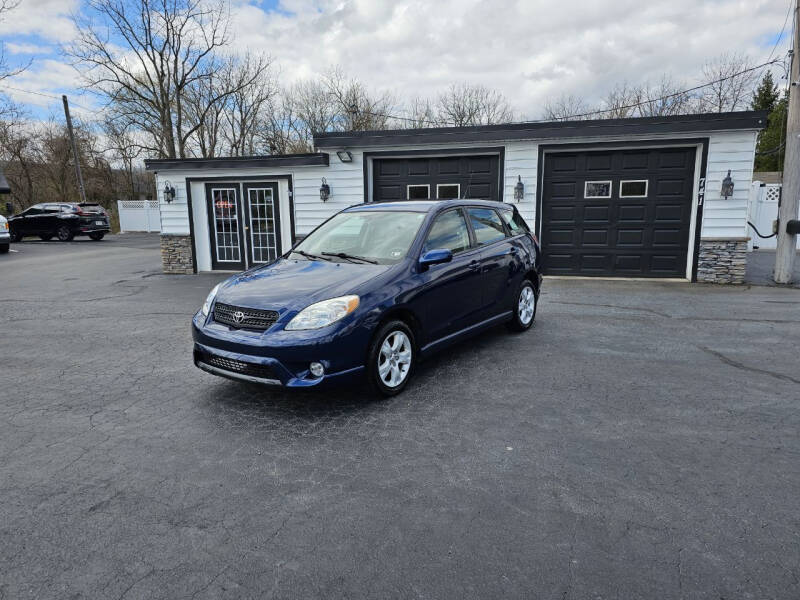
<svg viewBox="0 0 800 600">
<path fill-rule="evenodd" d="M 499 156 L 375 158 L 375 202 L 437 198 L 499 200 Z"/>
</svg>

